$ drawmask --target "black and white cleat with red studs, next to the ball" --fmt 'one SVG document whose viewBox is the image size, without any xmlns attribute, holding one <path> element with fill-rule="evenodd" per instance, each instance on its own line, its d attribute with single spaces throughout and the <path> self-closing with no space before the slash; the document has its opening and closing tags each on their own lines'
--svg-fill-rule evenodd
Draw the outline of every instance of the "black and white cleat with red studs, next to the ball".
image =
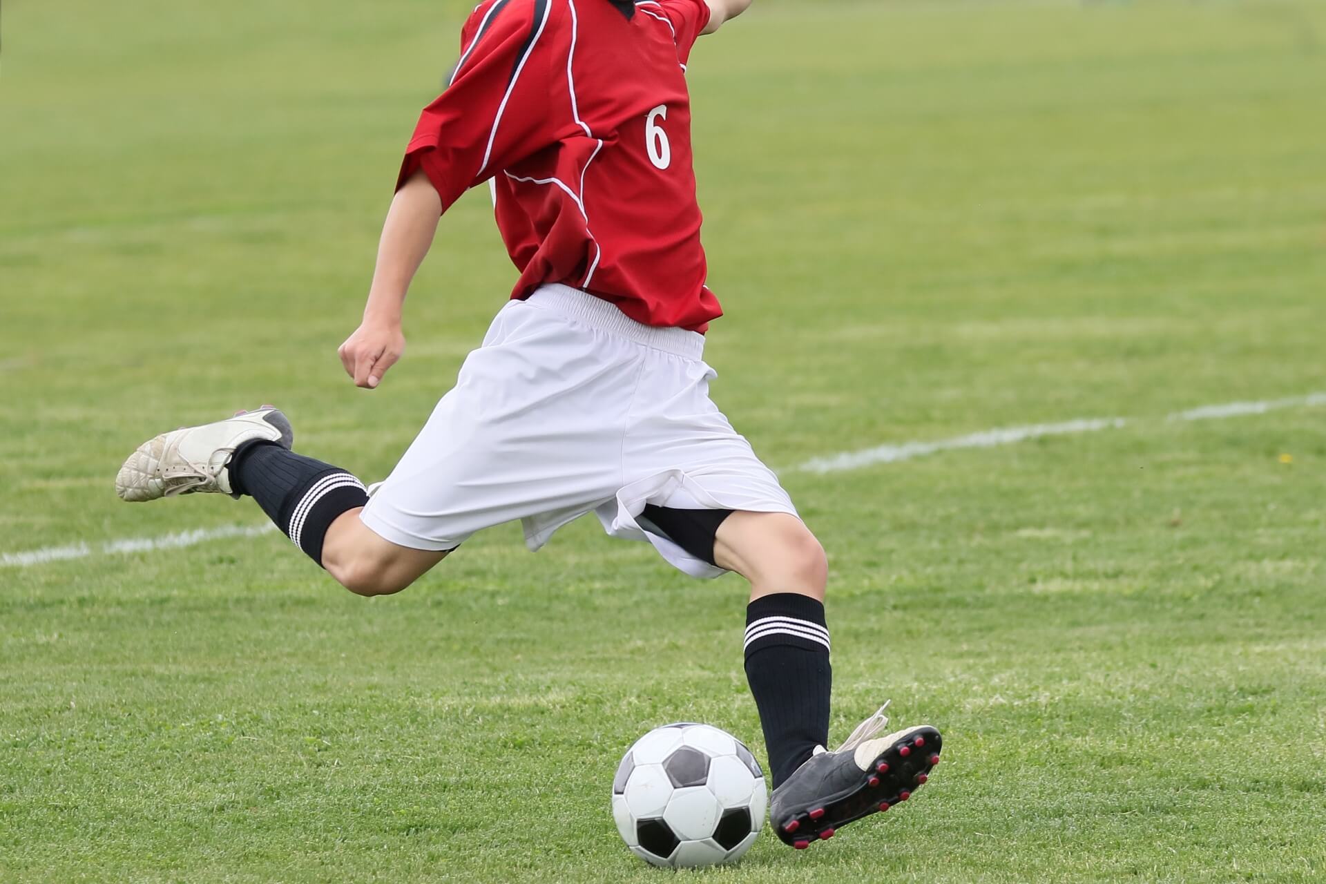
<svg viewBox="0 0 1326 884">
<path fill-rule="evenodd" d="M 887 706 L 888 704 L 884 704 Z M 773 790 L 769 822 L 797 850 L 863 816 L 911 798 L 939 763 L 943 740 L 928 725 L 874 737 L 888 724 L 883 708 L 837 751 L 818 750 Z"/>
</svg>

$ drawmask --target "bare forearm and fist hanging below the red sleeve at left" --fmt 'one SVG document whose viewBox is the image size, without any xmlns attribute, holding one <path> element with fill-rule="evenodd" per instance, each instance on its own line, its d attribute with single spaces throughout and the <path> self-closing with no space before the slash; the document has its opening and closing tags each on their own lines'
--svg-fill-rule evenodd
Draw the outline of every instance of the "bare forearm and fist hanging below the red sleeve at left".
<svg viewBox="0 0 1326 884">
<path fill-rule="evenodd" d="M 391 200 L 363 321 L 337 351 L 357 387 L 373 390 L 382 383 L 406 350 L 400 330 L 406 292 L 428 254 L 440 215 L 442 197 L 422 171 L 406 179 Z"/>
</svg>

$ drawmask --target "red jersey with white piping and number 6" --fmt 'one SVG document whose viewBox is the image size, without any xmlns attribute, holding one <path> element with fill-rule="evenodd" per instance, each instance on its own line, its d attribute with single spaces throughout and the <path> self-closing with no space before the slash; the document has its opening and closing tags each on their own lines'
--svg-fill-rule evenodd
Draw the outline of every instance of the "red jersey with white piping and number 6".
<svg viewBox="0 0 1326 884">
<path fill-rule="evenodd" d="M 443 211 L 493 180 L 520 270 L 513 298 L 562 282 L 636 322 L 704 331 L 686 64 L 704 0 L 484 0 L 446 91 L 419 118 L 400 180 L 422 168 Z"/>
</svg>

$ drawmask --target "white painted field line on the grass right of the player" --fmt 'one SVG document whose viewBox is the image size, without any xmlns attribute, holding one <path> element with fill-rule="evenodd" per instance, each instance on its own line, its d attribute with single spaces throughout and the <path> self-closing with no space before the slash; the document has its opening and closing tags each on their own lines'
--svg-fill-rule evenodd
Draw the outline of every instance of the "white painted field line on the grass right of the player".
<svg viewBox="0 0 1326 884">
<path fill-rule="evenodd" d="M 1238 417 L 1242 415 L 1264 415 L 1268 411 L 1281 408 L 1309 408 L 1326 406 L 1326 392 L 1314 392 L 1306 396 L 1293 396 L 1290 399 L 1269 399 L 1266 402 L 1229 402 L 1219 406 L 1203 406 L 1189 411 L 1179 411 L 1167 420 L 1220 420 L 1224 417 Z M 859 469 L 871 464 L 896 464 L 903 460 L 924 457 L 941 451 L 956 451 L 959 448 L 994 448 L 996 445 L 1012 445 L 1029 439 L 1044 436 L 1067 436 L 1073 433 L 1094 433 L 1102 429 L 1115 429 L 1128 424 L 1126 417 L 1083 417 L 1069 420 L 1062 424 L 1032 424 L 1030 427 L 1005 427 L 1002 429 L 984 429 L 979 433 L 940 439 L 928 443 L 903 443 L 900 445 L 878 445 L 862 451 L 849 451 L 827 457 L 812 457 L 797 469 L 806 473 L 837 473 L 845 469 Z"/>
</svg>

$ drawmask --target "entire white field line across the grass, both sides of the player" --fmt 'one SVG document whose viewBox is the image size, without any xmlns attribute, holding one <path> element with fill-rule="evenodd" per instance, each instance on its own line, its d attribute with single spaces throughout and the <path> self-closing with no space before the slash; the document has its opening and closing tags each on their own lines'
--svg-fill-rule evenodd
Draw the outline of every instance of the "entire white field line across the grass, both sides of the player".
<svg viewBox="0 0 1326 884">
<path fill-rule="evenodd" d="M 1244 415 L 1264 415 L 1268 411 L 1282 408 L 1311 408 L 1326 406 L 1326 392 L 1314 392 L 1306 396 L 1293 396 L 1290 399 L 1269 399 L 1266 402 L 1231 402 L 1219 406 L 1204 406 L 1189 411 L 1179 411 L 1167 420 L 1220 420 L 1224 417 L 1238 417 Z M 1000 429 L 984 429 L 965 436 L 940 439 L 937 441 L 914 441 L 899 445 L 878 445 L 863 451 L 850 451 L 829 457 L 814 457 L 797 467 L 809 473 L 835 473 L 845 469 L 858 469 L 871 464 L 896 464 L 904 460 L 914 460 L 927 455 L 944 451 L 957 451 L 961 448 L 994 448 L 998 445 L 1013 445 L 1029 439 L 1042 439 L 1045 436 L 1069 436 L 1075 433 L 1094 433 L 1102 429 L 1115 429 L 1128 425 L 1126 417 L 1085 417 L 1067 420 L 1059 424 L 1032 424 L 1029 427 L 1004 427 Z M 257 537 L 274 531 L 274 525 L 228 525 L 224 527 L 200 529 L 195 531 L 178 531 L 175 534 L 162 534 L 159 537 L 131 537 L 119 541 L 105 541 L 95 545 L 74 543 L 72 546 L 48 546 L 27 553 L 0 554 L 0 567 L 32 567 L 48 562 L 65 559 L 80 559 L 90 555 L 123 555 L 126 553 L 150 553 L 155 550 L 183 549 L 196 546 L 210 541 L 219 541 L 232 537 Z"/>
</svg>

